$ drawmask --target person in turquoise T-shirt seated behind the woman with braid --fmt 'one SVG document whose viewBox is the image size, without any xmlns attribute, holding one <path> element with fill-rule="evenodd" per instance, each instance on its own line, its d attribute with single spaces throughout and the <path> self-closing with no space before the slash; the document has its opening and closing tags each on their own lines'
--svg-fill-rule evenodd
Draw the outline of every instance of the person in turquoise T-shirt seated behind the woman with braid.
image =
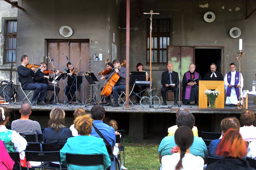
<svg viewBox="0 0 256 170">
<path fill-rule="evenodd" d="M 195 117 L 189 113 L 180 113 L 176 119 L 176 124 L 178 127 L 180 126 L 188 126 L 191 130 L 195 124 Z M 161 141 L 158 154 L 159 154 L 159 161 L 161 163 L 161 159 L 164 155 L 172 155 L 171 149 L 176 146 L 175 144 L 175 136 L 166 136 Z M 175 152 L 177 152 L 176 150 Z M 198 138 L 194 136 L 194 142 L 189 148 L 189 152 L 195 156 L 200 156 L 202 158 L 206 158 L 208 156 L 208 151 L 204 140 L 202 138 Z"/>
</svg>

